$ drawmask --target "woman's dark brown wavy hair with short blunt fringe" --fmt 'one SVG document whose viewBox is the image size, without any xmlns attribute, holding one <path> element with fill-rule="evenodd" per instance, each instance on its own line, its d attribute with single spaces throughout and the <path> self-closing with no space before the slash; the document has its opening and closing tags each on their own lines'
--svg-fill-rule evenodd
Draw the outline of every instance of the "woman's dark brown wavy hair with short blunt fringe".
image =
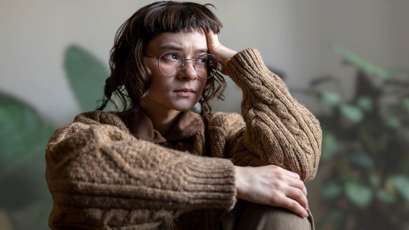
<svg viewBox="0 0 409 230">
<path fill-rule="evenodd" d="M 110 50 L 111 74 L 105 81 L 103 104 L 98 110 L 103 110 L 111 101 L 119 111 L 111 99 L 112 93 L 121 100 L 122 112 L 127 109 L 139 110 L 140 99 L 148 95 L 151 86 L 152 69 L 143 59 L 146 45 L 163 32 L 199 32 L 203 27 L 218 34 L 223 25 L 207 8 L 208 5 L 214 7 L 193 2 L 154 2 L 128 18 L 115 34 L 114 45 Z M 224 100 L 225 88 L 225 79 L 219 72 L 207 80 L 199 100 L 201 115 L 209 118 L 209 101 L 214 97 Z"/>
</svg>

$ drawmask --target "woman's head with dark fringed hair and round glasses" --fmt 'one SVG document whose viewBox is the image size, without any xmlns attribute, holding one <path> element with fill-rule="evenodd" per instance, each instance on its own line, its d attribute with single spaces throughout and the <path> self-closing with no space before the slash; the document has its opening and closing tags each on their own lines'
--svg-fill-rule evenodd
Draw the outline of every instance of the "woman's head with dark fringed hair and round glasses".
<svg viewBox="0 0 409 230">
<path fill-rule="evenodd" d="M 199 100 L 202 112 L 207 115 L 205 111 L 211 110 L 209 100 L 213 97 L 222 99 L 226 86 L 222 75 L 216 73 L 210 79 L 200 79 L 197 75 L 194 77 L 192 61 L 186 61 L 182 72 L 168 77 L 159 71 L 157 59 L 144 56 L 159 57 L 165 51 L 160 49 L 164 45 L 183 48 L 180 51 L 186 59 L 200 56 L 196 55 L 196 50 L 207 50 L 206 35 L 202 28 L 218 34 L 222 27 L 207 5 L 154 2 L 126 20 L 118 29 L 110 52 L 111 75 L 106 79 L 104 87 L 107 99 L 99 110 L 106 106 L 108 99 L 112 101 L 113 93 L 119 96 L 123 111 L 128 108 L 129 101 L 133 110 L 139 109 L 141 99 L 179 111 L 189 110 Z M 193 88 L 196 95 L 180 97 L 170 92 L 185 87 Z M 158 95 L 161 90 L 167 91 Z M 115 102 L 112 102 L 118 110 Z"/>
</svg>

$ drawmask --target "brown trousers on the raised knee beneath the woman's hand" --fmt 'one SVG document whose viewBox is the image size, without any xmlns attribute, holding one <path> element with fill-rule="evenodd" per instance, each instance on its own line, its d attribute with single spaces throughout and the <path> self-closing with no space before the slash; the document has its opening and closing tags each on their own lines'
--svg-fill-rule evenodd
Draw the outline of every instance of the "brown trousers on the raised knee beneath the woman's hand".
<svg viewBox="0 0 409 230">
<path fill-rule="evenodd" d="M 252 203 L 237 199 L 230 212 L 225 212 L 218 221 L 218 230 L 315 230 L 310 210 L 308 217 L 270 205 Z M 158 230 L 166 230 L 164 221 Z"/>
</svg>

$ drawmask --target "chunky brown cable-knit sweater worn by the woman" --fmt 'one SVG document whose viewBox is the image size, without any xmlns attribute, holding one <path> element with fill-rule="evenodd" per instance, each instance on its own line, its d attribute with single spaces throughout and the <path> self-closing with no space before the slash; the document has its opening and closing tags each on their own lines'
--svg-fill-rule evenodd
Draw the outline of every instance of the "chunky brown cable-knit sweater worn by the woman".
<svg viewBox="0 0 409 230">
<path fill-rule="evenodd" d="M 56 129 L 45 158 L 54 199 L 49 227 L 217 229 L 236 203 L 234 165 L 278 165 L 312 180 L 319 121 L 270 72 L 255 48 L 227 60 L 243 90 L 242 115 L 184 112 L 162 137 L 142 110 L 77 115 Z"/>
</svg>

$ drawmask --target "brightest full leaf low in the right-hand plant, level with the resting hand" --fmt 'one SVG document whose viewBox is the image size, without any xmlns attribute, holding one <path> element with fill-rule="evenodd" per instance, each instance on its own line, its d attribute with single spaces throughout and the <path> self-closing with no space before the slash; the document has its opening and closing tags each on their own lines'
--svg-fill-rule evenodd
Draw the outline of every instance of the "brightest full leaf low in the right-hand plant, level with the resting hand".
<svg viewBox="0 0 409 230">
<path fill-rule="evenodd" d="M 373 192 L 371 187 L 355 181 L 347 181 L 344 189 L 346 197 L 358 207 L 366 207 L 372 201 Z"/>
</svg>

